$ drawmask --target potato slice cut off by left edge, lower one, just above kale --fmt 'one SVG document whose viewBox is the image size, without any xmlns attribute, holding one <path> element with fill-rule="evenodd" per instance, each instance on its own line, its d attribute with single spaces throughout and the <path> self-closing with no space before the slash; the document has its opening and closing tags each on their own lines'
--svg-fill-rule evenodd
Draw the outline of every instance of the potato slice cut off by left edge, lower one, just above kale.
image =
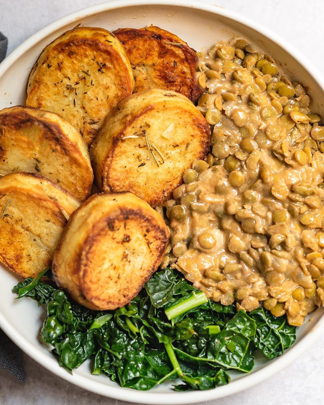
<svg viewBox="0 0 324 405">
<path fill-rule="evenodd" d="M 43 176 L 17 172 L 0 178 L 0 262 L 23 278 L 52 261 L 75 198 Z"/>
</svg>

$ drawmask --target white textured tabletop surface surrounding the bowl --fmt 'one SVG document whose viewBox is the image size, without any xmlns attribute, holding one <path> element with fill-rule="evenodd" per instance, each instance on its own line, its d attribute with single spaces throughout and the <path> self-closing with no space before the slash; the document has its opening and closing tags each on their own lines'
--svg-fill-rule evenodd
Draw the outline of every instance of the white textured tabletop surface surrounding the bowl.
<svg viewBox="0 0 324 405">
<path fill-rule="evenodd" d="M 324 62 L 322 52 L 324 3 L 319 0 L 204 1 L 232 9 L 264 23 L 298 47 L 313 64 L 321 68 Z M 23 40 L 55 19 L 96 3 L 100 1 L 0 0 L 0 31 L 8 36 L 11 52 Z M 206 405 L 322 404 L 323 347 L 324 337 L 297 361 L 269 380 L 226 399 L 207 402 Z M 24 359 L 26 383 L 16 382 L 7 371 L 0 371 L 0 405 L 90 403 L 126 405 L 125 402 L 107 399 L 72 386 L 52 375 L 28 356 Z"/>
</svg>

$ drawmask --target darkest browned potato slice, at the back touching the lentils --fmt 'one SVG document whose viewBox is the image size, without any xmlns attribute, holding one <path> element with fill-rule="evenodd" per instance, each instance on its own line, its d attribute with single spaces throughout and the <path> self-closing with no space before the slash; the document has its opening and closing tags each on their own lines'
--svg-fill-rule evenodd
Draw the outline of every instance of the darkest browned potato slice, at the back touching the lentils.
<svg viewBox="0 0 324 405">
<path fill-rule="evenodd" d="M 203 94 L 196 79 L 198 56 L 177 35 L 154 26 L 120 28 L 114 34 L 134 70 L 136 91 L 154 87 L 174 90 L 192 102 Z"/>
</svg>

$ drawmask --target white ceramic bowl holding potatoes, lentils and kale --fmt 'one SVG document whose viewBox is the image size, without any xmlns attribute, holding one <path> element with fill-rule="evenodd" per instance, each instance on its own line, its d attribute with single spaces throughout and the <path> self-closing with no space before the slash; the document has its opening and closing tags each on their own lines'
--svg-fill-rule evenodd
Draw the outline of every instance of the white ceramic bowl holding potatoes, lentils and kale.
<svg viewBox="0 0 324 405">
<path fill-rule="evenodd" d="M 176 0 L 113 1 L 55 21 L 26 40 L 0 64 L 0 109 L 25 104 L 28 75 L 40 51 L 51 40 L 79 23 L 108 30 L 120 27 L 141 28 L 153 23 L 174 32 L 198 51 L 218 40 L 241 36 L 254 43 L 257 49 L 270 53 L 290 78 L 301 81 L 313 99 L 313 111 L 324 115 L 324 83 L 318 72 L 309 66 L 304 55 L 260 24 L 220 7 L 188 0 L 183 3 Z M 87 390 L 130 402 L 188 404 L 234 394 L 257 384 L 298 358 L 324 330 L 323 309 L 317 309 L 309 322 L 298 330 L 296 343 L 285 354 L 271 362 L 257 359 L 254 370 L 247 375 L 231 373 L 232 382 L 227 386 L 209 391 L 174 392 L 171 384 L 165 384 L 141 392 L 121 388 L 103 375 L 92 375 L 89 362 L 73 371 L 72 375 L 61 368 L 39 336 L 45 309 L 38 308 L 36 302 L 28 298 L 15 300 L 12 288 L 19 281 L 18 277 L 4 267 L 0 271 L 2 330 L 24 352 L 56 375 Z"/>
</svg>

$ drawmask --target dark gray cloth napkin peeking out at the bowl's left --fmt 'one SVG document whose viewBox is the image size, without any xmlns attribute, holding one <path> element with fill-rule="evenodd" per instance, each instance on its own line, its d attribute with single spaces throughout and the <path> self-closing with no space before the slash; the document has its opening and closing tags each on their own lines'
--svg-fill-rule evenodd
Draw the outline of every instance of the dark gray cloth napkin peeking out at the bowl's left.
<svg viewBox="0 0 324 405">
<path fill-rule="evenodd" d="M 0 32 L 0 63 L 7 53 L 8 38 Z M 26 381 L 23 369 L 23 353 L 0 329 L 0 363 L 3 370 L 8 370 L 17 380 Z"/>
</svg>

